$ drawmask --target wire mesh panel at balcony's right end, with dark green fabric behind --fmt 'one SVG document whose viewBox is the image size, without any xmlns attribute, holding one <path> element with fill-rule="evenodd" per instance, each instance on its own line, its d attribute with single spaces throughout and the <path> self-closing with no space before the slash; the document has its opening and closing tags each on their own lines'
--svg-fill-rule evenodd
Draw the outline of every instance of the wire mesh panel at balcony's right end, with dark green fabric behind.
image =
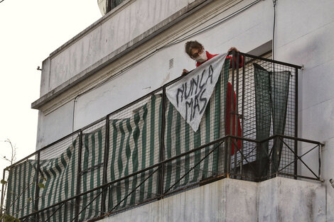
<svg viewBox="0 0 334 222">
<path fill-rule="evenodd" d="M 243 67 L 233 72 L 230 82 L 234 79 L 234 90 L 239 91 L 242 137 L 262 141 L 271 135 L 296 136 L 296 68 L 244 55 Z M 293 141 L 287 143 L 295 148 Z M 242 162 L 244 170 L 256 168 L 259 178 L 265 178 L 277 172 L 282 162 L 295 158 L 285 149 L 277 138 L 260 144 L 244 140 L 242 154 L 232 158 L 232 167 Z M 295 167 L 291 164 L 284 171 L 293 174 Z"/>
</svg>

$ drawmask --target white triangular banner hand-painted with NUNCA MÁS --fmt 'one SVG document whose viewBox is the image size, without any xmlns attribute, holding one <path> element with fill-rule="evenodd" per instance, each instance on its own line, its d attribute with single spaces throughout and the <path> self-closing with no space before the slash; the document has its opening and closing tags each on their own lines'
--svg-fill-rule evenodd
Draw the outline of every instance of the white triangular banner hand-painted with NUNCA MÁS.
<svg viewBox="0 0 334 222">
<path fill-rule="evenodd" d="M 213 57 L 166 90 L 169 101 L 193 131 L 198 131 L 226 56 L 227 53 Z"/>
</svg>

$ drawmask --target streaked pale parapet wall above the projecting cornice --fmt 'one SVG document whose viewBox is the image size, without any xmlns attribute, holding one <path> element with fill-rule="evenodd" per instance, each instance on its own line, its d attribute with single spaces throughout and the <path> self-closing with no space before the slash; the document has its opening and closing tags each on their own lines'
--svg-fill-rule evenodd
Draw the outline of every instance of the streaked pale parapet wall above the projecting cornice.
<svg viewBox="0 0 334 222">
<path fill-rule="evenodd" d="M 43 62 L 41 96 L 195 0 L 127 0 Z"/>
</svg>

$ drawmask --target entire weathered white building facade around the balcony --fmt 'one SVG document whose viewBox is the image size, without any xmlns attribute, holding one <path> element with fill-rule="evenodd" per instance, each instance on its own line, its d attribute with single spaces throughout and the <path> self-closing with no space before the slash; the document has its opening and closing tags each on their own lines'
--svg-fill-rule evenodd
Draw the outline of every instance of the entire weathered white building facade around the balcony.
<svg viewBox="0 0 334 222">
<path fill-rule="evenodd" d="M 39 110 L 36 150 L 162 87 L 183 68 L 193 70 L 195 64 L 184 52 L 188 40 L 200 41 L 211 53 L 235 46 L 303 67 L 296 88 L 298 138 L 325 144 L 320 149 L 322 181 L 227 179 L 103 220 L 237 221 L 240 207 L 240 221 L 334 221 L 334 189 L 329 182 L 334 178 L 333 9 L 332 0 L 124 0 L 43 61 L 41 97 L 32 104 Z M 308 148 L 299 146 L 298 154 Z M 318 152 L 303 160 L 317 167 Z M 302 164 L 298 167 L 308 175 Z M 247 198 L 228 196 L 229 186 Z M 282 194 L 286 190 L 290 196 Z M 196 199 L 202 192 L 212 199 L 205 195 Z M 238 204 L 238 199 L 246 204 Z M 182 206 L 176 208 L 180 201 Z M 291 206 L 285 206 L 287 201 Z M 195 218 L 182 213 L 190 212 L 192 203 L 197 203 L 195 212 L 202 212 Z M 207 204 L 224 210 L 205 211 Z"/>
</svg>

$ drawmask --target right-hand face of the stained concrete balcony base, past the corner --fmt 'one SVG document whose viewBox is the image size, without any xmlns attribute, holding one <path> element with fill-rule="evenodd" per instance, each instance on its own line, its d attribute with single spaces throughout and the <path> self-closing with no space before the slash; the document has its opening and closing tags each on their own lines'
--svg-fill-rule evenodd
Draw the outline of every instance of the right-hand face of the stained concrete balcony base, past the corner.
<svg viewBox="0 0 334 222">
<path fill-rule="evenodd" d="M 326 221 L 325 186 L 276 177 L 259 183 L 259 221 Z"/>
</svg>

